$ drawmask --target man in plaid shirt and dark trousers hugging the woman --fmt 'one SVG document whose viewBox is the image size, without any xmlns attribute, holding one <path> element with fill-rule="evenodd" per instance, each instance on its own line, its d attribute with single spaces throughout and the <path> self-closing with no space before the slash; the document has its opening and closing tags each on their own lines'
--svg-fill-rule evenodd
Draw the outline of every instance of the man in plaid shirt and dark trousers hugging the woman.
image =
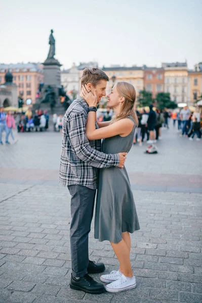
<svg viewBox="0 0 202 303">
<path fill-rule="evenodd" d="M 106 95 L 108 76 L 100 69 L 85 69 L 82 85 L 94 94 L 97 90 L 98 103 Z M 104 264 L 89 261 L 88 235 L 91 229 L 94 201 L 98 183 L 98 168 L 124 167 L 126 153 L 106 155 L 101 153 L 101 140 L 88 141 L 86 123 L 89 108 L 86 101 L 78 96 L 69 106 L 62 130 L 60 162 L 60 185 L 68 186 L 71 194 L 70 246 L 72 275 L 70 287 L 88 293 L 102 293 L 103 284 L 93 280 L 88 273 L 103 272 Z M 100 123 L 96 128 L 106 126 Z"/>
</svg>

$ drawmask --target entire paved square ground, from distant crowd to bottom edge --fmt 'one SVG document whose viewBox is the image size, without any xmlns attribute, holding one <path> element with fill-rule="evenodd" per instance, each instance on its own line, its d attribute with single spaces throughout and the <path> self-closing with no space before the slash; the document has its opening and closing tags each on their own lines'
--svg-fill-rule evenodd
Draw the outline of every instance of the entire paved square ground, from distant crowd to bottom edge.
<svg viewBox="0 0 202 303">
<path fill-rule="evenodd" d="M 18 143 L 0 146 L 0 303 L 202 301 L 201 142 L 174 130 L 163 135 L 158 155 L 143 154 L 146 145 L 128 155 L 141 227 L 131 235 L 137 287 L 118 294 L 68 286 L 70 195 L 57 186 L 60 134 L 19 134 Z M 109 242 L 94 239 L 93 226 L 90 260 L 109 273 L 117 259 Z"/>
</svg>

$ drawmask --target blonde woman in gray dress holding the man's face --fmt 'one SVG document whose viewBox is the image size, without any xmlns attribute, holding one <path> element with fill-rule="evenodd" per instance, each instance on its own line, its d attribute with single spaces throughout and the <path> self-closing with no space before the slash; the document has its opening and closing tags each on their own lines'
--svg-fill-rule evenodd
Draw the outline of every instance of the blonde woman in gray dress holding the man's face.
<svg viewBox="0 0 202 303">
<path fill-rule="evenodd" d="M 107 154 L 127 153 L 133 145 L 138 118 L 134 110 L 136 91 L 132 84 L 118 82 L 107 96 L 107 106 L 114 110 L 111 121 L 99 123 L 95 128 L 97 93 L 82 88 L 89 105 L 86 135 L 89 140 L 103 138 L 102 151 Z M 139 230 L 133 193 L 126 168 L 100 169 L 95 215 L 95 238 L 108 240 L 119 261 L 119 270 L 102 275 L 101 281 L 109 292 L 119 292 L 136 287 L 130 263 L 130 233 Z"/>
</svg>

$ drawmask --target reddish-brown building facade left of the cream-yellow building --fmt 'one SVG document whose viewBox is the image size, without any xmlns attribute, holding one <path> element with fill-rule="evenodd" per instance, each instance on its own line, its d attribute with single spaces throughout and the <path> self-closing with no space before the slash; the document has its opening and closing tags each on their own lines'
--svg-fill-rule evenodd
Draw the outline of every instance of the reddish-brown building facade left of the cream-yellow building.
<svg viewBox="0 0 202 303">
<path fill-rule="evenodd" d="M 155 98 L 158 92 L 164 91 L 164 69 L 144 66 L 144 89 Z"/>
</svg>

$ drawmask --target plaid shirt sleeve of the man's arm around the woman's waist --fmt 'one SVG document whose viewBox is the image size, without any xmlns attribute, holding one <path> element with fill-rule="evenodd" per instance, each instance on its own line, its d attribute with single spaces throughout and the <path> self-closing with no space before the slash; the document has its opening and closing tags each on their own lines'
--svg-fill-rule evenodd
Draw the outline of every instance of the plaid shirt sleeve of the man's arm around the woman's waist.
<svg viewBox="0 0 202 303">
<path fill-rule="evenodd" d="M 119 165 L 118 154 L 104 154 L 92 148 L 86 136 L 86 121 L 83 113 L 73 113 L 67 121 L 67 133 L 76 156 L 97 168 Z"/>
</svg>

